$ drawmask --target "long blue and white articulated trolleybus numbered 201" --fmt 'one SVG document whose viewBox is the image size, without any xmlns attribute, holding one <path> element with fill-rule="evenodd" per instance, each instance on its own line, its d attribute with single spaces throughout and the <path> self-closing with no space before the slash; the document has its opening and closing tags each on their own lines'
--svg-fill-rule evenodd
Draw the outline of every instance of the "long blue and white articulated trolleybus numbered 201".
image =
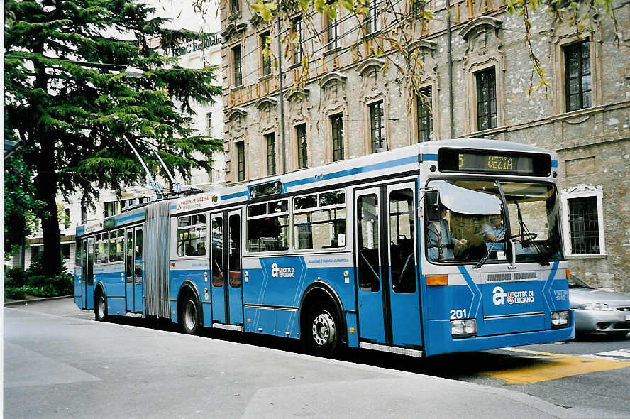
<svg viewBox="0 0 630 419">
<path fill-rule="evenodd" d="M 574 337 L 556 153 L 432 141 L 77 228 L 75 300 L 411 356 Z"/>
</svg>

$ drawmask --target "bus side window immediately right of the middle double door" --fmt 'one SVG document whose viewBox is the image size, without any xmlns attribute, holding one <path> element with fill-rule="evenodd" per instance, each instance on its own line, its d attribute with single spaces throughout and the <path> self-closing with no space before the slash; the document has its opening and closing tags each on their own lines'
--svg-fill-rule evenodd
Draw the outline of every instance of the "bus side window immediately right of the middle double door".
<svg viewBox="0 0 630 419">
<path fill-rule="evenodd" d="M 262 207 L 267 205 L 267 207 Z M 248 251 L 289 249 L 289 201 L 251 205 L 247 219 Z M 262 213 L 262 211 L 265 211 Z M 262 214 L 261 214 L 262 213 Z"/>
</svg>

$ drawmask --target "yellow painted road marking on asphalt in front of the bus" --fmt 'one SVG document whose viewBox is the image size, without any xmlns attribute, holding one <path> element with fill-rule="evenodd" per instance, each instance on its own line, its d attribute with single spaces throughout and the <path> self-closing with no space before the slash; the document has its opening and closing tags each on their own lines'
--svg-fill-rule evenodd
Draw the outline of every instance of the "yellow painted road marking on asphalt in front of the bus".
<svg viewBox="0 0 630 419">
<path fill-rule="evenodd" d="M 526 354 L 524 358 L 540 359 L 539 362 L 521 368 L 497 369 L 481 374 L 502 379 L 508 384 L 531 384 L 563 377 L 609 371 L 630 366 L 630 362 L 580 355 L 554 354 L 529 349 L 502 348 L 502 351 Z"/>
</svg>

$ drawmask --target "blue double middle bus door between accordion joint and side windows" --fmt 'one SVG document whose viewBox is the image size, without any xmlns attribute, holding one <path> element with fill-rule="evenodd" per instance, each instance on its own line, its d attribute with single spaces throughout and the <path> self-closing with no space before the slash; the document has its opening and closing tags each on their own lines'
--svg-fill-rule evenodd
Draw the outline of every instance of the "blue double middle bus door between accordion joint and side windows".
<svg viewBox="0 0 630 419">
<path fill-rule="evenodd" d="M 212 322 L 242 326 L 241 211 L 212 215 L 211 229 Z"/>
</svg>

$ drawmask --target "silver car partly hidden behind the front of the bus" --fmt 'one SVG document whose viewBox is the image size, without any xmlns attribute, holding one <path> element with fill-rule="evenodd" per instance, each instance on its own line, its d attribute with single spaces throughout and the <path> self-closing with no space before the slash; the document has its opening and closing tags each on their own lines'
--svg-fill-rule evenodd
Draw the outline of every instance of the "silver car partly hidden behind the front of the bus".
<svg viewBox="0 0 630 419">
<path fill-rule="evenodd" d="M 630 295 L 597 290 L 572 275 L 569 301 L 575 310 L 575 332 L 604 332 L 617 337 L 630 332 Z"/>
</svg>

